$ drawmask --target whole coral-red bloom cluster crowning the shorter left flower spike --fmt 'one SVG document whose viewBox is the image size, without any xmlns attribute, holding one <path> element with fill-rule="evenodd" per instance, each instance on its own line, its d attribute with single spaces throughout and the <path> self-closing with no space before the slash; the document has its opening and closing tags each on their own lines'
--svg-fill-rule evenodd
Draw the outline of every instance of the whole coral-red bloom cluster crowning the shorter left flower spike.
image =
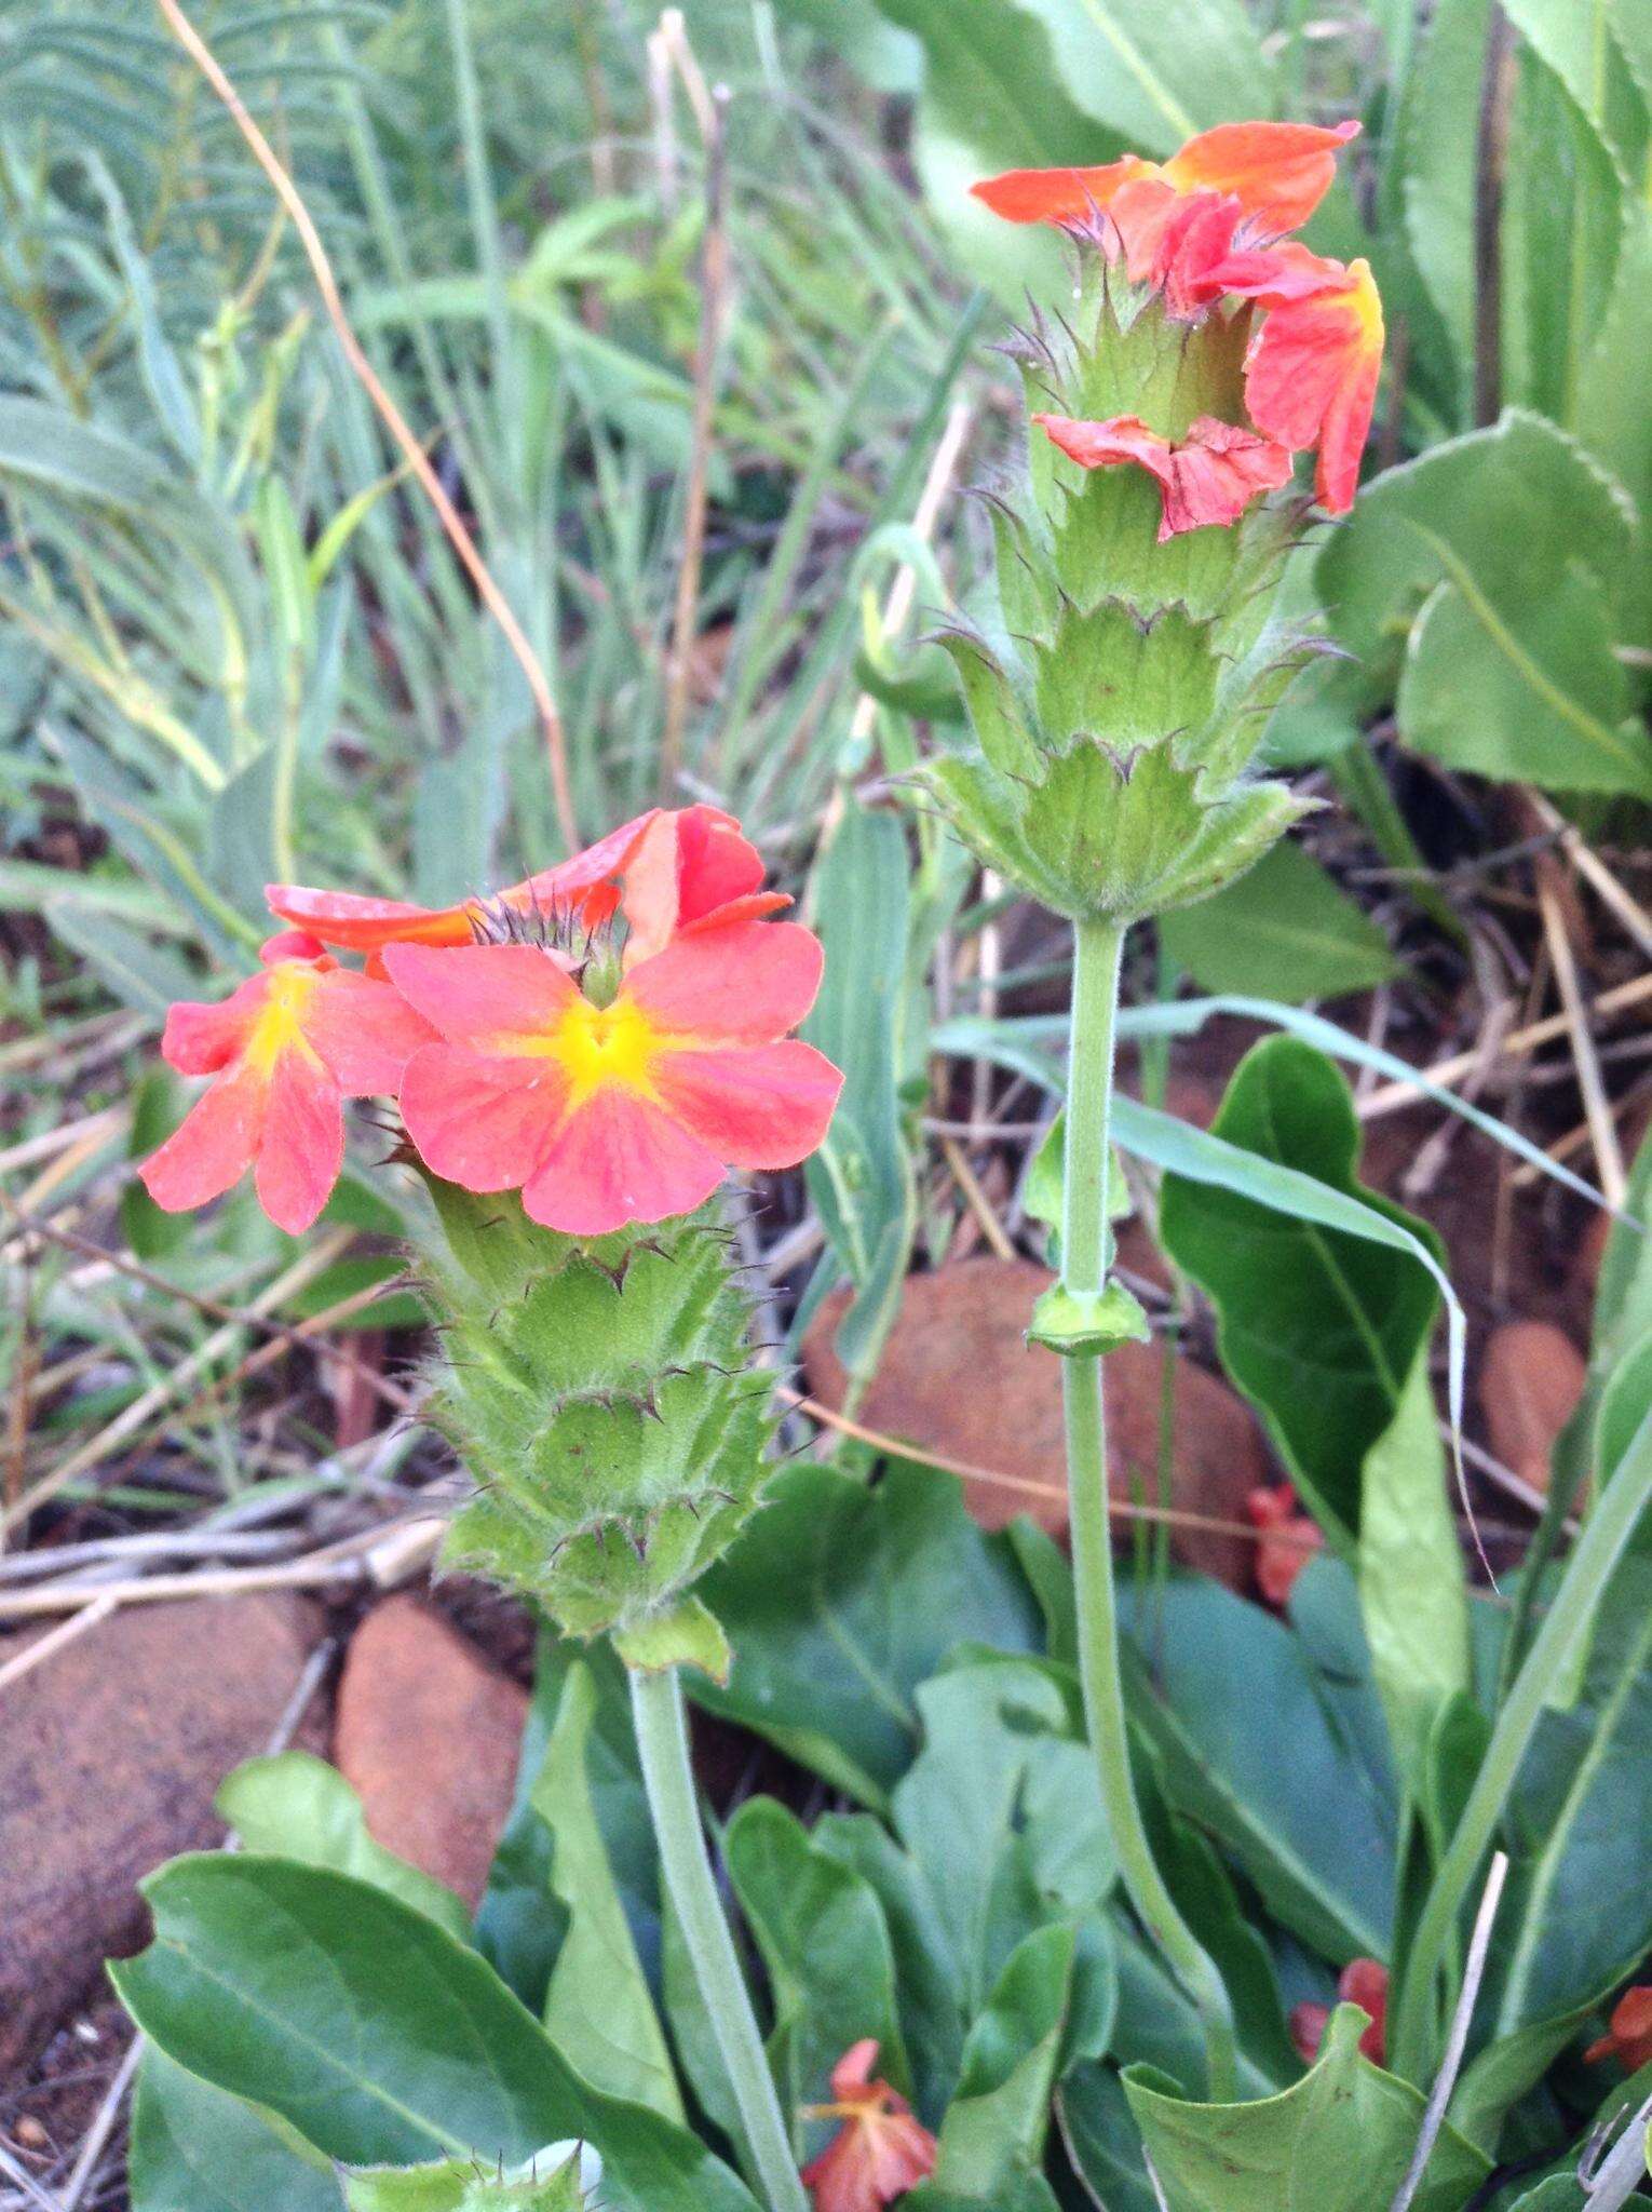
<svg viewBox="0 0 1652 2212">
<path fill-rule="evenodd" d="M 690 1214 L 725 1168 L 790 1168 L 832 1119 L 838 1071 L 787 1037 L 820 947 L 770 920 L 787 900 L 714 807 L 644 814 L 491 902 L 268 896 L 287 929 L 263 971 L 166 1020 L 166 1060 L 212 1077 L 142 1170 L 170 1212 L 252 1168 L 270 1219 L 310 1228 L 345 1097 L 396 1099 L 433 1175 L 520 1190 L 571 1237 Z"/>
</svg>

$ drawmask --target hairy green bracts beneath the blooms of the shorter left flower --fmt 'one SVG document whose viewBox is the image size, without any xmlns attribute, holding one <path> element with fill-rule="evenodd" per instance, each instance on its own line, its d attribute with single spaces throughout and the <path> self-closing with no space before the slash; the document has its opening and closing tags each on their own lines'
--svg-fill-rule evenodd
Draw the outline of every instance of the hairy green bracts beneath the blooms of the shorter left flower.
<svg viewBox="0 0 1652 2212">
<path fill-rule="evenodd" d="M 445 1250 L 431 1420 L 478 1482 L 449 1566 L 615 1632 L 639 1666 L 725 1670 L 690 1584 L 756 1504 L 774 1429 L 750 1303 L 710 1214 L 575 1239 L 431 1179 Z"/>
</svg>

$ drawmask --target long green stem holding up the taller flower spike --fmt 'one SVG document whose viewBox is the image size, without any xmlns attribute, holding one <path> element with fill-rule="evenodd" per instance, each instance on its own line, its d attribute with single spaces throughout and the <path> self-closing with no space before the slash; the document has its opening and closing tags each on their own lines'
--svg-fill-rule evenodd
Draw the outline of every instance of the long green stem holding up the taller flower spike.
<svg viewBox="0 0 1652 2212">
<path fill-rule="evenodd" d="M 1106 922 L 1079 922 L 1075 940 L 1062 1281 L 1075 1296 L 1097 1296 L 1106 1287 L 1110 1259 L 1112 1042 L 1123 931 Z M 1101 1801 L 1108 1809 L 1112 1845 L 1130 1902 L 1199 2008 L 1210 2055 L 1210 2095 L 1216 2104 L 1230 2104 L 1238 2095 L 1238 2053 L 1227 1991 L 1165 1889 L 1148 1832 L 1141 1825 L 1130 1774 L 1119 1621 L 1112 1595 L 1108 1431 L 1099 1354 L 1064 1360 L 1064 1394 L 1079 1677 L 1090 1745 L 1101 1776 Z"/>
</svg>

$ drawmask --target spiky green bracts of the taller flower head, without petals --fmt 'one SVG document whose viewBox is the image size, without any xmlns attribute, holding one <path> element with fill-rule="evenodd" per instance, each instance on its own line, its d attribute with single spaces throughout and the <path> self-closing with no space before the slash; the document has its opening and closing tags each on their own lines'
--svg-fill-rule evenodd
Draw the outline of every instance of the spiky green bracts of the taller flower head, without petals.
<svg viewBox="0 0 1652 2212">
<path fill-rule="evenodd" d="M 1026 341 L 1028 407 L 1141 416 L 1183 438 L 1245 422 L 1252 310 L 1174 323 L 1099 268 L 1075 323 Z M 975 743 L 922 770 L 964 843 L 1070 920 L 1119 927 L 1232 883 L 1305 812 L 1245 781 L 1267 712 L 1300 666 L 1267 615 L 1303 504 L 1159 544 L 1143 469 L 1081 469 L 1033 429 L 1026 493 L 993 500 L 995 637 L 953 630 Z"/>
</svg>

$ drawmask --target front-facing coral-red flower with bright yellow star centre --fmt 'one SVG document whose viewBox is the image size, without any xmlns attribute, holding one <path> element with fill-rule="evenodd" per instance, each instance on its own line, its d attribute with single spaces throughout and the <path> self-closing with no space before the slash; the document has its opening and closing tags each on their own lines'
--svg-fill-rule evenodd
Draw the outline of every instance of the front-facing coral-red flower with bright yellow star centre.
<svg viewBox="0 0 1652 2212">
<path fill-rule="evenodd" d="M 542 945 L 383 958 L 440 1033 L 400 1086 L 425 1164 L 467 1190 L 520 1190 L 533 1221 L 571 1237 L 688 1214 L 730 1166 L 796 1166 L 838 1102 L 832 1062 L 783 1042 L 814 1004 L 820 945 L 754 918 L 745 896 L 628 962 L 613 998 L 588 998 Z"/>
</svg>

